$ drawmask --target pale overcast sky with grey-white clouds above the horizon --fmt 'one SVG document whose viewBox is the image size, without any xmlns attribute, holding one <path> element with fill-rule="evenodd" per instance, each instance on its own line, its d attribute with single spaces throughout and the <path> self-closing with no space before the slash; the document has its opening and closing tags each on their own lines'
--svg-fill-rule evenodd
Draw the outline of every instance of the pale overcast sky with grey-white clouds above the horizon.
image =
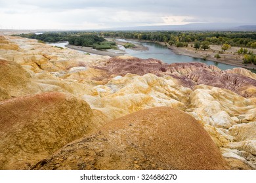
<svg viewBox="0 0 256 183">
<path fill-rule="evenodd" d="M 0 0 L 0 29 L 256 24 L 255 0 Z"/>
</svg>

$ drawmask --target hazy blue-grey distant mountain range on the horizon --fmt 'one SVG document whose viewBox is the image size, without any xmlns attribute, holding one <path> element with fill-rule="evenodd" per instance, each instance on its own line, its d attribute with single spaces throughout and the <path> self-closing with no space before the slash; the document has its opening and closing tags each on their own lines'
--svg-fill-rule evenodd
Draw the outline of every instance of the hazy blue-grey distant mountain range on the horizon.
<svg viewBox="0 0 256 183">
<path fill-rule="evenodd" d="M 152 25 L 152 26 L 138 26 L 138 27 L 115 27 L 107 30 L 113 31 L 256 31 L 256 25 L 245 24 L 205 24 L 195 23 L 186 25 Z"/>
</svg>

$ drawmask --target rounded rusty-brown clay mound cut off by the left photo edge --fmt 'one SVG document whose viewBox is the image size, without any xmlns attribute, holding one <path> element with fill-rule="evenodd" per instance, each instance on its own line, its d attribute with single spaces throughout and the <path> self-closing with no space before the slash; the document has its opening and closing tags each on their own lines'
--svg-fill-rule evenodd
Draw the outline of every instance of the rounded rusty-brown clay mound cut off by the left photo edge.
<svg viewBox="0 0 256 183">
<path fill-rule="evenodd" d="M 91 116 L 85 101 L 64 93 L 0 102 L 0 169 L 29 169 L 68 142 L 83 137 Z"/>
</svg>

